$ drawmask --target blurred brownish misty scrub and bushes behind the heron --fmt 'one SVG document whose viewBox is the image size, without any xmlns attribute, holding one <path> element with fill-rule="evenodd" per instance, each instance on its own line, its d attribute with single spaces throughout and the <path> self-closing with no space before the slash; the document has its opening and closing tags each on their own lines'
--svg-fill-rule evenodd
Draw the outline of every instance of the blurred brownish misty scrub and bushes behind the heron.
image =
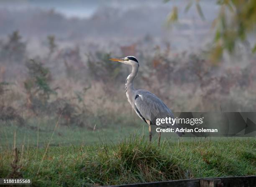
<svg viewBox="0 0 256 187">
<path fill-rule="evenodd" d="M 44 50 L 39 47 L 40 55 L 34 55 L 27 49 L 33 42 L 14 31 L 0 42 L 0 123 L 51 128 L 59 119 L 60 126 L 90 132 L 140 125 L 124 94 L 130 67 L 109 60 L 128 53 L 138 54 L 140 63 L 135 87 L 156 94 L 174 112 L 254 111 L 253 55 L 234 55 L 243 64 L 224 59 L 213 63 L 205 51 L 173 51 L 169 44 L 147 50 L 148 40 L 112 44 L 117 52 L 106 52 L 74 41 L 67 47 L 50 35 L 40 39 Z"/>
</svg>

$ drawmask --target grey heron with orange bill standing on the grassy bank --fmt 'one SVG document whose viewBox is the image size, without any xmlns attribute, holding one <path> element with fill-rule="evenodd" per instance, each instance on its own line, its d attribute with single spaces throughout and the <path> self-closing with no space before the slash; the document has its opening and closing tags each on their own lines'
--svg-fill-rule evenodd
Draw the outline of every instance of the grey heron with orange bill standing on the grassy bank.
<svg viewBox="0 0 256 187">
<path fill-rule="evenodd" d="M 125 81 L 125 94 L 136 114 L 141 118 L 141 120 L 148 124 L 149 142 L 151 142 L 151 125 L 156 125 L 156 119 L 166 117 L 174 118 L 174 115 L 164 102 L 159 99 L 159 97 L 147 90 L 136 90 L 133 87 L 133 80 L 135 79 L 139 68 L 138 60 L 135 57 L 128 56 L 125 58 L 111 58 L 110 60 L 132 66 L 132 72 L 128 75 Z M 169 125 L 162 124 L 159 127 L 166 128 L 169 127 Z M 177 127 L 177 124 L 174 124 L 174 127 Z M 181 136 L 183 133 L 177 132 L 177 134 Z M 161 132 L 159 132 L 158 145 L 160 145 L 160 138 Z"/>
</svg>

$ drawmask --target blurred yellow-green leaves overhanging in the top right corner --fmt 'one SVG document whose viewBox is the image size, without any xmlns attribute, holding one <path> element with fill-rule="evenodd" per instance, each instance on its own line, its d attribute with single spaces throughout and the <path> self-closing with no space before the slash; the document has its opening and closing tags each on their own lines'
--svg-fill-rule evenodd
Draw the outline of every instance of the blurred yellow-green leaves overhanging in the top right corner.
<svg viewBox="0 0 256 187">
<path fill-rule="evenodd" d="M 165 2 L 168 1 L 170 0 L 165 0 Z M 242 43 L 246 47 L 250 47 L 252 52 L 256 52 L 256 43 L 251 47 L 248 42 L 248 37 L 251 34 L 256 36 L 256 0 L 216 0 L 216 3 L 220 9 L 212 22 L 215 36 L 210 50 L 210 59 L 215 62 L 222 57 L 224 51 L 234 52 L 238 43 Z M 200 17 L 205 19 L 200 0 L 190 0 L 185 7 L 185 12 L 193 5 L 196 6 Z M 178 14 L 178 7 L 174 6 L 167 17 L 168 24 L 177 22 Z"/>
</svg>

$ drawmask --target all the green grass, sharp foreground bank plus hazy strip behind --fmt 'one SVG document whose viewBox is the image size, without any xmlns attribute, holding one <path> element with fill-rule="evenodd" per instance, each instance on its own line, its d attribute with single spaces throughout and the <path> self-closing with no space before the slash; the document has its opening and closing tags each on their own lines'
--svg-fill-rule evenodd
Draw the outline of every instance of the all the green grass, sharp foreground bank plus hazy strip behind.
<svg viewBox="0 0 256 187">
<path fill-rule="evenodd" d="M 157 147 L 156 136 L 147 142 L 146 125 L 119 120 L 122 125 L 97 125 L 94 131 L 56 126 L 56 120 L 29 121 L 24 127 L 1 123 L 0 177 L 13 172 L 14 132 L 18 172 L 38 187 L 256 175 L 255 138 L 184 137 L 178 142 L 177 136 L 163 133 Z M 136 136 L 125 139 L 129 134 Z"/>
</svg>

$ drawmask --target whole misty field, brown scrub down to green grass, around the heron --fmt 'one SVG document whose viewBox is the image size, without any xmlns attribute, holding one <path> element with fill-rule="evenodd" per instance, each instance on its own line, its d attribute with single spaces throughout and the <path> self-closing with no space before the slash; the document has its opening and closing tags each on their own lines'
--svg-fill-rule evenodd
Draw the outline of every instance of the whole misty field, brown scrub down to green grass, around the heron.
<svg viewBox="0 0 256 187">
<path fill-rule="evenodd" d="M 256 107 L 255 58 L 246 57 L 243 66 L 214 64 L 205 52 L 172 52 L 169 45 L 146 52 L 148 40 L 112 54 L 65 47 L 48 36 L 47 50 L 34 56 L 18 31 L 5 38 L 0 177 L 31 178 L 33 186 L 48 187 L 256 175 L 255 138 L 162 136 L 161 147 L 149 144 L 148 127 L 124 94 L 130 70 L 108 60 L 139 54 L 136 87 L 173 111 L 237 112 Z"/>
</svg>

